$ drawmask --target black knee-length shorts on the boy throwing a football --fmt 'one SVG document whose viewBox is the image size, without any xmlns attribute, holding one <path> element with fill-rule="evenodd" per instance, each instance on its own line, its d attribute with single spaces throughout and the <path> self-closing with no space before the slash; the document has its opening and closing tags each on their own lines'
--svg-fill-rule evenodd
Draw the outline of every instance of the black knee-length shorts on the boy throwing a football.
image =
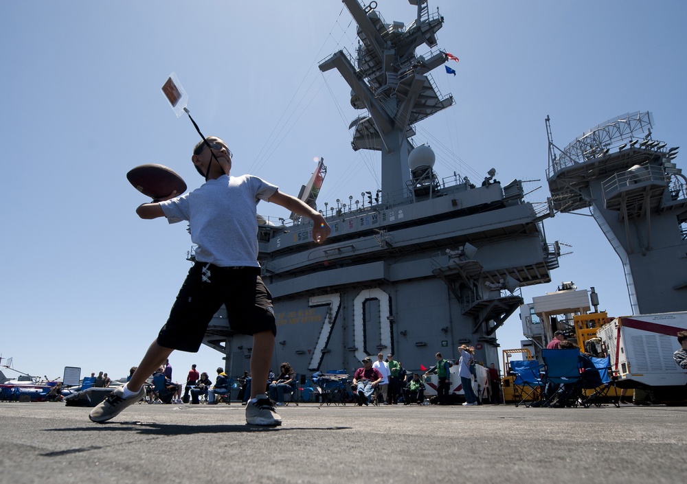
<svg viewBox="0 0 687 484">
<path fill-rule="evenodd" d="M 277 333 L 272 296 L 262 283 L 259 267 L 218 267 L 196 262 L 157 336 L 157 344 L 197 352 L 208 323 L 223 304 L 233 331 Z"/>
</svg>

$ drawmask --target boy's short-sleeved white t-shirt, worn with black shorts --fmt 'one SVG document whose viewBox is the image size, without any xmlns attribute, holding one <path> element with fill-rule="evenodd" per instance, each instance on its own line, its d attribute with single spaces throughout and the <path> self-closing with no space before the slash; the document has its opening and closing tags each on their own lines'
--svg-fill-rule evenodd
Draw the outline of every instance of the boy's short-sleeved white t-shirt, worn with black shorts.
<svg viewBox="0 0 687 484">
<path fill-rule="evenodd" d="M 257 176 L 223 175 L 160 205 L 170 224 L 190 222 L 197 261 L 259 267 L 256 207 L 277 189 Z"/>
</svg>

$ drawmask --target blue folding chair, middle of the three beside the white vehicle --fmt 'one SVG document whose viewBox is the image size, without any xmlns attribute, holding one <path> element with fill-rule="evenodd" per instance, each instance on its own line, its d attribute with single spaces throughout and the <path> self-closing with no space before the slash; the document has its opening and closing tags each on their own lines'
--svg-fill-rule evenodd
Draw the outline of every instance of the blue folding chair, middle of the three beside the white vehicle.
<svg viewBox="0 0 687 484">
<path fill-rule="evenodd" d="M 579 349 L 543 349 L 546 367 L 544 406 L 576 406 L 581 400 L 581 353 Z"/>
</svg>

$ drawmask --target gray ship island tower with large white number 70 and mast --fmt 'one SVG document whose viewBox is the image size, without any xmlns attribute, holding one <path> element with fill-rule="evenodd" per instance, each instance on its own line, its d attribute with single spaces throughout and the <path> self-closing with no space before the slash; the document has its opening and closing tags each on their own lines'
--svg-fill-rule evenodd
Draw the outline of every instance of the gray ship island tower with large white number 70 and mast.
<svg viewBox="0 0 687 484">
<path fill-rule="evenodd" d="M 526 202 L 523 183 L 502 185 L 494 170 L 480 186 L 455 173 L 442 178 L 431 148 L 414 146 L 414 124 L 453 104 L 429 75 L 446 54 L 415 54 L 436 46 L 438 12 L 409 0 L 417 14 L 405 25 L 386 23 L 374 2 L 343 3 L 358 25 L 357 55 L 338 51 L 320 69 L 337 69 L 352 106 L 365 110 L 350 125 L 352 148 L 381 151 L 381 190 L 320 206 L 332 227 L 322 245 L 311 240 L 310 220 L 260 225 L 262 277 L 278 325 L 275 365 L 350 372 L 382 352 L 417 371 L 435 352 L 453 358 L 462 343 L 476 347 L 477 360 L 498 364 L 496 330 L 521 304 L 517 288 L 549 282 L 558 266 L 558 245 L 543 231 L 552 211 Z M 251 338 L 232 334 L 223 316 L 205 343 L 240 374 Z"/>
</svg>

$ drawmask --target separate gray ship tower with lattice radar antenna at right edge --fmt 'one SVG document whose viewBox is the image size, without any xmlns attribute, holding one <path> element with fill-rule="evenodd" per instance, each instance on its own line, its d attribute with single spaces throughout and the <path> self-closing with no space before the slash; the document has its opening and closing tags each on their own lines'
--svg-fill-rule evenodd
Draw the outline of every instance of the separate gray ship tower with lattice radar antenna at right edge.
<svg viewBox="0 0 687 484">
<path fill-rule="evenodd" d="M 563 150 L 552 141 L 553 207 L 589 208 L 622 262 L 633 314 L 687 310 L 687 178 L 677 146 L 653 139 L 649 112 L 590 129 Z"/>
</svg>

